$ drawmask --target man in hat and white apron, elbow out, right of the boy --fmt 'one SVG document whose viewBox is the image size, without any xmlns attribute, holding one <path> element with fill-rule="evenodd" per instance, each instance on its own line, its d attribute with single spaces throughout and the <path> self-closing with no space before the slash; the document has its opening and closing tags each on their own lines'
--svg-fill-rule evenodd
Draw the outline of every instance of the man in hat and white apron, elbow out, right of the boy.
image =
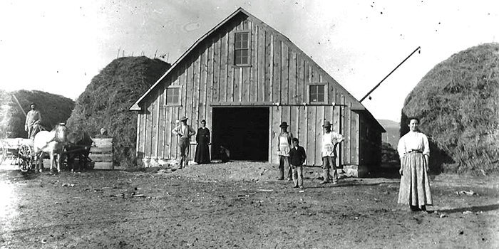
<svg viewBox="0 0 499 249">
<path fill-rule="evenodd" d="M 343 142 L 345 139 L 337 132 L 331 132 L 331 123 L 325 121 L 322 125 L 324 127 L 324 135 L 322 135 L 322 170 L 323 181 L 321 184 L 329 182 L 329 169 L 333 169 L 333 184 L 338 183 L 338 171 L 336 169 L 336 146 Z"/>
</svg>

